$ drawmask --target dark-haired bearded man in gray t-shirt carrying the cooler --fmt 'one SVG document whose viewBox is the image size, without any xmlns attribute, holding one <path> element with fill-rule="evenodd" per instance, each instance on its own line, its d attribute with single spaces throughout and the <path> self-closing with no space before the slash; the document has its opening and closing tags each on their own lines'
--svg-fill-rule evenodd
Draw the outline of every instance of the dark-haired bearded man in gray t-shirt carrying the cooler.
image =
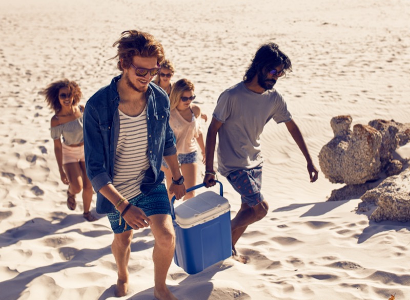
<svg viewBox="0 0 410 300">
<path fill-rule="evenodd" d="M 279 77 L 292 71 L 289 57 L 273 42 L 262 45 L 256 52 L 243 81 L 224 91 L 216 104 L 206 141 L 206 172 L 203 183 L 215 185 L 214 152 L 218 143 L 218 171 L 227 177 L 241 195 L 242 205 L 231 221 L 232 255 L 247 263 L 239 255 L 235 244 L 248 225 L 261 220 L 269 205 L 260 192 L 263 159 L 260 134 L 271 119 L 285 123 L 308 163 L 311 182 L 318 178 L 303 136 L 292 119 L 282 95 L 273 89 Z"/>
</svg>

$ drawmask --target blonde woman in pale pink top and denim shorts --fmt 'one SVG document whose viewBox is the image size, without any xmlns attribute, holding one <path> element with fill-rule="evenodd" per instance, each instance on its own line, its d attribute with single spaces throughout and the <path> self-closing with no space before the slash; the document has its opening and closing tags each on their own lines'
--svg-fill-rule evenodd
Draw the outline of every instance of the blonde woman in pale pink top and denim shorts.
<svg viewBox="0 0 410 300">
<path fill-rule="evenodd" d="M 195 99 L 194 90 L 195 87 L 191 81 L 180 79 L 172 86 L 170 95 L 170 126 L 175 134 L 178 161 L 186 187 L 196 184 L 197 145 L 195 141 L 201 149 L 202 163 L 205 163 L 205 144 L 200 128 L 201 109 L 192 103 Z M 169 187 L 171 185 L 171 172 L 163 160 L 161 170 L 165 173 Z M 168 194 L 168 196 L 172 199 L 173 195 Z M 188 192 L 183 200 L 194 196 L 195 191 Z"/>
</svg>

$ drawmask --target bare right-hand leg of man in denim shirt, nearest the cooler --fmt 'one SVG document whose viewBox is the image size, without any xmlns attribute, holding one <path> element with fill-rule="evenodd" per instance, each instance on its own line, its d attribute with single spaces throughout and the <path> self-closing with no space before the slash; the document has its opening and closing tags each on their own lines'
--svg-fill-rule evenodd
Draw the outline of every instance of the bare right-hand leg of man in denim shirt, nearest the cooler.
<svg viewBox="0 0 410 300">
<path fill-rule="evenodd" d="M 177 300 L 168 289 L 165 281 L 175 250 L 175 232 L 169 215 L 150 216 L 155 238 L 152 259 L 154 261 L 154 296 L 159 300 Z"/>
</svg>

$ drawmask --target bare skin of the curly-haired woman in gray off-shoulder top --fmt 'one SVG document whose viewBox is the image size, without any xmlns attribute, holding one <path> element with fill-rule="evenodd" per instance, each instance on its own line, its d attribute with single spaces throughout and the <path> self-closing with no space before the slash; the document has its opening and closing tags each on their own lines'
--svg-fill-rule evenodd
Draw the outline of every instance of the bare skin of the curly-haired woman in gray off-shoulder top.
<svg viewBox="0 0 410 300">
<path fill-rule="evenodd" d="M 73 97 L 61 99 L 60 95 L 68 95 L 68 88 L 61 88 L 58 92 L 61 109 L 51 118 L 51 127 L 68 123 L 81 117 L 81 111 L 77 105 L 73 105 Z M 84 106 L 81 105 L 84 111 Z M 79 145 L 84 144 L 80 143 Z M 75 145 L 77 146 L 77 145 Z M 61 182 L 68 185 L 68 191 L 76 195 L 83 190 L 84 213 L 90 211 L 92 201 L 92 185 L 86 174 L 86 164 L 84 161 L 78 163 L 67 163 L 63 165 L 63 146 L 60 139 L 54 140 L 54 154 L 58 164 Z"/>
</svg>

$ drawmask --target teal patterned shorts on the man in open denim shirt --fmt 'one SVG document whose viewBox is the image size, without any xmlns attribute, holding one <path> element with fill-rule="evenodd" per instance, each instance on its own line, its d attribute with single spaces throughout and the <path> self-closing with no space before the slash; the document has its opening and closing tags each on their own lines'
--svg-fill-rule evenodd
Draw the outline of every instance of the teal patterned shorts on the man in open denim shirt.
<svg viewBox="0 0 410 300">
<path fill-rule="evenodd" d="M 128 201 L 132 205 L 141 208 L 147 217 L 152 215 L 171 215 L 170 200 L 168 199 L 167 188 L 163 183 L 154 188 L 148 196 L 139 194 Z M 121 233 L 132 229 L 128 224 L 126 226 L 126 222 L 124 218 L 120 216 L 118 210 L 112 213 L 107 213 L 107 217 L 108 220 L 110 220 L 111 228 L 114 233 Z M 121 225 L 119 225 L 119 218 L 122 219 Z"/>
</svg>

